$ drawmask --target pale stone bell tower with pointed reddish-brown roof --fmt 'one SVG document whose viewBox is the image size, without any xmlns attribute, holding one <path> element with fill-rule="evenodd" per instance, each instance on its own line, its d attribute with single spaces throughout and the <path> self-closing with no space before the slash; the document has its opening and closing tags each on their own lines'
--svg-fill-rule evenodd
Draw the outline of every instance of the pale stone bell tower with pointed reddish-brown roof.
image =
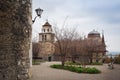
<svg viewBox="0 0 120 80">
<path fill-rule="evenodd" d="M 39 57 L 51 61 L 54 53 L 55 34 L 52 31 L 52 25 L 48 21 L 42 26 L 42 32 L 39 33 L 40 52 Z"/>
</svg>

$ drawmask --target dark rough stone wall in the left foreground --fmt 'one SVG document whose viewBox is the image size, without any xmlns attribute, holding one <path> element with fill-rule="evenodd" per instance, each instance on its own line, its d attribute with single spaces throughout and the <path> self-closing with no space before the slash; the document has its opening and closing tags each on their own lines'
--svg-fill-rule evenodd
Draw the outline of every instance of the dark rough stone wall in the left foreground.
<svg viewBox="0 0 120 80">
<path fill-rule="evenodd" d="M 0 80 L 27 80 L 31 0 L 0 0 Z"/>
</svg>

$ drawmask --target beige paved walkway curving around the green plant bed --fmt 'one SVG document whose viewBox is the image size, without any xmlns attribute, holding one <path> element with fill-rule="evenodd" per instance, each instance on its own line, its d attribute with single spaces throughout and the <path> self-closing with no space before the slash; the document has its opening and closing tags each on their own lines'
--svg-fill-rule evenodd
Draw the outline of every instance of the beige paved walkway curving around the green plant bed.
<svg viewBox="0 0 120 80">
<path fill-rule="evenodd" d="M 120 65 L 114 65 L 113 70 L 108 69 L 107 64 L 95 66 L 102 71 L 101 74 L 79 74 L 49 67 L 57 63 L 60 64 L 60 62 L 45 62 L 33 66 L 31 80 L 120 80 Z"/>
</svg>

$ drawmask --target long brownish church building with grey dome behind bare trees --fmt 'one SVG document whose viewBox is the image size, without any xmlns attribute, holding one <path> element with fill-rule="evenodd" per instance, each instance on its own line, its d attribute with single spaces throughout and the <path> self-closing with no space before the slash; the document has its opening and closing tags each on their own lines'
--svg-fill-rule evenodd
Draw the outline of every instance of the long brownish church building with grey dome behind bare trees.
<svg viewBox="0 0 120 80">
<path fill-rule="evenodd" d="M 93 30 L 88 33 L 87 38 L 81 40 L 73 40 L 69 45 L 68 54 L 66 55 L 67 61 L 77 61 L 82 63 L 104 62 L 106 55 L 106 45 L 104 34 Z M 55 60 L 60 60 L 59 49 L 55 48 Z"/>
</svg>

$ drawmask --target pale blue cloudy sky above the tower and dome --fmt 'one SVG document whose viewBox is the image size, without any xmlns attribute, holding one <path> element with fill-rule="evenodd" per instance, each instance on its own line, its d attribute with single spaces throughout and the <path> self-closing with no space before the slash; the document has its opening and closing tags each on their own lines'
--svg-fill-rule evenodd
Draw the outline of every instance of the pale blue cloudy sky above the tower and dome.
<svg viewBox="0 0 120 80">
<path fill-rule="evenodd" d="M 32 0 L 33 19 L 36 8 L 44 11 L 32 26 L 33 39 L 48 20 L 52 26 L 77 27 L 84 35 L 104 31 L 107 50 L 120 52 L 120 0 Z"/>
</svg>

